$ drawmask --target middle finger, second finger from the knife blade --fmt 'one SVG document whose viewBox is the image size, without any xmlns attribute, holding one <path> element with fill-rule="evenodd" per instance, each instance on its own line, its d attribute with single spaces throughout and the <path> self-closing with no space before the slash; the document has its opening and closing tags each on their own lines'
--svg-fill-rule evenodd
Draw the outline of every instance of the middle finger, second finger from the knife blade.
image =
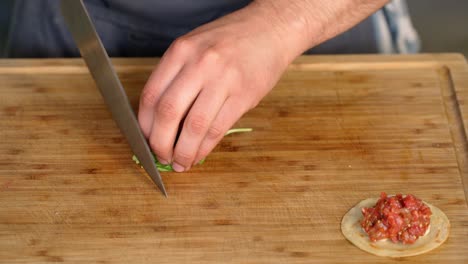
<svg viewBox="0 0 468 264">
<path fill-rule="evenodd" d="M 203 74 L 195 65 L 186 65 L 156 103 L 149 141 L 164 164 L 172 160 L 179 125 L 200 92 L 202 80 Z"/>
</svg>

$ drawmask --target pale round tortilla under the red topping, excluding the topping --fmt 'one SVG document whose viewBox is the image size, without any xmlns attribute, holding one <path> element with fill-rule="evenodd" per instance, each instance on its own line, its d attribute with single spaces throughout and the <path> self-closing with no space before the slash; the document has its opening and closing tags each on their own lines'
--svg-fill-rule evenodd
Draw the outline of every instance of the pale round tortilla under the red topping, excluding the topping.
<svg viewBox="0 0 468 264">
<path fill-rule="evenodd" d="M 341 232 L 351 243 L 371 254 L 383 257 L 409 257 L 429 252 L 447 240 L 450 222 L 439 208 L 424 202 L 431 208 L 431 224 L 429 232 L 419 237 L 414 244 L 393 243 L 389 239 L 371 242 L 367 233 L 361 227 L 363 218 L 361 208 L 373 207 L 378 198 L 369 198 L 351 208 L 341 221 Z"/>
</svg>

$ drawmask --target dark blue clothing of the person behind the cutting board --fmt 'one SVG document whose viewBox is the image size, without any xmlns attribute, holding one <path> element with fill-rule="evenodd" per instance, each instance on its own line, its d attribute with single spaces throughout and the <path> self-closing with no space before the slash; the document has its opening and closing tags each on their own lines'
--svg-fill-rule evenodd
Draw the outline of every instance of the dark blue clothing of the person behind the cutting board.
<svg viewBox="0 0 468 264">
<path fill-rule="evenodd" d="M 79 56 L 60 14 L 59 1 L 16 0 L 7 43 L 8 57 Z M 85 0 L 85 3 L 110 56 L 146 57 L 161 56 L 177 37 L 234 12 L 250 1 Z M 401 39 L 404 34 L 399 31 L 402 23 L 394 21 L 402 13 L 404 1 L 394 0 L 391 4 L 388 5 L 391 12 L 384 8 L 306 53 L 399 52 L 397 38 Z M 391 15 L 387 15 L 389 13 Z M 388 46 L 392 48 L 382 48 Z"/>
</svg>

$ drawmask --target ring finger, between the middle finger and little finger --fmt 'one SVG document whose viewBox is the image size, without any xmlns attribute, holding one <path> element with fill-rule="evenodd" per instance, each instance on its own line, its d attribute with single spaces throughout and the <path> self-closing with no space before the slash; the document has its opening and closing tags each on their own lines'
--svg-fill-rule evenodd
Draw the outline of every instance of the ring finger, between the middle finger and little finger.
<svg viewBox="0 0 468 264">
<path fill-rule="evenodd" d="M 177 172 L 190 169 L 211 123 L 226 100 L 225 89 L 203 89 L 190 108 L 174 149 L 172 167 Z"/>
</svg>

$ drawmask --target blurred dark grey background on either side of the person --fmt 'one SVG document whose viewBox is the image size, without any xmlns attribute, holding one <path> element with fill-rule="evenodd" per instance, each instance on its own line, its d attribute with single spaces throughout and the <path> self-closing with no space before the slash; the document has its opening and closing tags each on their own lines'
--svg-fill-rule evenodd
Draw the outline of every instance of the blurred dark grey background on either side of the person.
<svg viewBox="0 0 468 264">
<path fill-rule="evenodd" d="M 13 1 L 0 0 L 0 56 L 4 54 Z M 408 5 L 422 52 L 460 52 L 468 58 L 468 1 L 409 0 Z"/>
</svg>

